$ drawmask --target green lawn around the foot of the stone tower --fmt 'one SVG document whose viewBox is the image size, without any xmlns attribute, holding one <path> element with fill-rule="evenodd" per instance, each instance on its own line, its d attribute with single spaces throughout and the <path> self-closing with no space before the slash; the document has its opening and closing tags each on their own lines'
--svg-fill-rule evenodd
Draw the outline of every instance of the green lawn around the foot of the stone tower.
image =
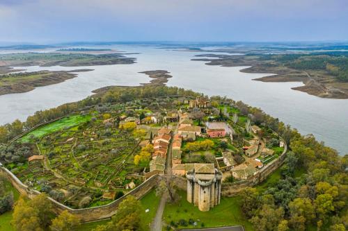
<svg viewBox="0 0 348 231">
<path fill-rule="evenodd" d="M 186 192 L 180 191 L 181 199 L 177 204 L 166 204 L 163 219 L 167 224 L 171 221 L 177 223 L 180 219 L 197 222 L 198 228 L 213 228 L 227 225 L 244 225 L 246 231 L 253 230 L 251 223 L 245 218 L 241 210 L 241 200 L 238 196 L 230 198 L 221 198 L 220 205 L 209 210 L 201 212 L 198 207 L 194 207 L 186 200 Z M 178 228 L 194 228 L 193 225 L 187 227 L 178 226 Z"/>
</svg>

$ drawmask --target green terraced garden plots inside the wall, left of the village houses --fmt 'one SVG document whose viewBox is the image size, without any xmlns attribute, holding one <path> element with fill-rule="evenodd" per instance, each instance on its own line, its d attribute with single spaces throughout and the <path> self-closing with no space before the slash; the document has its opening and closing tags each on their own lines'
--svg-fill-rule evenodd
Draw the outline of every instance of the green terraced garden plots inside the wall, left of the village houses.
<svg viewBox="0 0 348 231">
<path fill-rule="evenodd" d="M 91 112 L 41 126 L 19 141 L 44 158 L 10 169 L 24 184 L 70 207 L 110 203 L 143 182 L 143 169 L 133 164 L 142 137 L 134 128 L 118 128 L 118 117 Z"/>
</svg>

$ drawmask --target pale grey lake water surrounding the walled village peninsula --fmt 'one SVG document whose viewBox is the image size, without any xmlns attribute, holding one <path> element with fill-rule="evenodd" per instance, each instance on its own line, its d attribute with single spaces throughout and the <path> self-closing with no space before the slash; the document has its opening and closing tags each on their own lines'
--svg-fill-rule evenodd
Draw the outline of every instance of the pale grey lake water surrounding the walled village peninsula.
<svg viewBox="0 0 348 231">
<path fill-rule="evenodd" d="M 262 108 L 273 117 L 289 123 L 302 134 L 312 133 L 318 140 L 348 153 L 348 100 L 322 99 L 290 89 L 301 83 L 262 83 L 253 78 L 267 74 L 246 74 L 245 67 L 219 67 L 191 61 L 202 52 L 173 51 L 150 46 L 111 46 L 113 49 L 139 52 L 132 65 L 81 67 L 95 69 L 80 72 L 77 78 L 63 83 L 37 87 L 31 92 L 0 96 L 0 124 L 14 119 L 25 120 L 37 110 L 78 101 L 93 89 L 109 85 L 139 85 L 150 78 L 139 71 L 164 69 L 171 72 L 169 86 L 184 87 L 212 95 L 228 96 Z M 72 70 L 79 67 L 17 67 L 27 71 Z"/>
</svg>

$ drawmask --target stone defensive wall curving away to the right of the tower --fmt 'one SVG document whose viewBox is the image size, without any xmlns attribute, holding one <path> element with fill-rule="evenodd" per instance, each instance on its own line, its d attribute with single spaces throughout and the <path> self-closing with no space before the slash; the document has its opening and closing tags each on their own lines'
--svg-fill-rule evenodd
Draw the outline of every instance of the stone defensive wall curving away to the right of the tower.
<svg viewBox="0 0 348 231">
<path fill-rule="evenodd" d="M 258 185 L 260 182 L 264 181 L 267 178 L 267 176 L 276 171 L 276 169 L 278 169 L 284 163 L 286 153 L 287 144 L 285 143 L 283 153 L 280 154 L 280 156 L 276 158 L 276 160 L 272 160 L 262 169 L 256 171 L 254 173 L 254 176 L 252 176 L 251 178 L 233 183 L 223 183 L 221 187 L 222 195 L 234 196 L 238 194 L 239 191 L 242 191 L 245 187 L 253 187 L 255 185 Z"/>
</svg>

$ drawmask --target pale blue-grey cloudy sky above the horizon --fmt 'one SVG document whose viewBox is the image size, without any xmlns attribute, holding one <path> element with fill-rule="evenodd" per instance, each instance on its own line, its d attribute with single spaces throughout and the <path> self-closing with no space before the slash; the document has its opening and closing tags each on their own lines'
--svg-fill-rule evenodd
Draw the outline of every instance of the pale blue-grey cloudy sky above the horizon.
<svg viewBox="0 0 348 231">
<path fill-rule="evenodd" d="M 0 42 L 348 40 L 348 0 L 0 0 Z"/>
</svg>

